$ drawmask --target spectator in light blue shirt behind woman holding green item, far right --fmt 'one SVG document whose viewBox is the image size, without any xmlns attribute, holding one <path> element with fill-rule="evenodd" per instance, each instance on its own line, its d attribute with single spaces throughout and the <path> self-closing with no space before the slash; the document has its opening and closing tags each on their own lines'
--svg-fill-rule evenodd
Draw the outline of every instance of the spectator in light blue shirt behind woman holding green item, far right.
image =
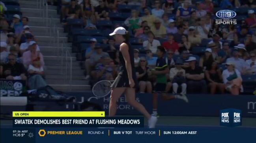
<svg viewBox="0 0 256 143">
<path fill-rule="evenodd" d="M 243 60 L 242 58 L 240 58 L 239 55 L 239 51 L 234 50 L 233 51 L 233 56 L 228 58 L 226 60 L 226 63 L 233 63 L 235 68 L 241 72 L 241 74 L 245 74 L 245 70 L 246 70 L 246 63 L 245 60 Z"/>
</svg>

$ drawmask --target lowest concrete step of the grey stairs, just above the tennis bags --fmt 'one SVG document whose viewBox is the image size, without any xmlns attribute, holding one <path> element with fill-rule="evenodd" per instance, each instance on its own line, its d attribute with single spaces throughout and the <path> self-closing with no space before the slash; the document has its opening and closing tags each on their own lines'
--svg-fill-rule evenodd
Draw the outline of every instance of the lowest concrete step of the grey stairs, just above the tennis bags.
<svg viewBox="0 0 256 143">
<path fill-rule="evenodd" d="M 86 91 L 91 90 L 90 85 L 59 85 L 59 84 L 50 84 L 51 87 L 53 87 L 57 91 L 70 91 L 69 89 L 72 89 L 71 91 Z"/>
</svg>

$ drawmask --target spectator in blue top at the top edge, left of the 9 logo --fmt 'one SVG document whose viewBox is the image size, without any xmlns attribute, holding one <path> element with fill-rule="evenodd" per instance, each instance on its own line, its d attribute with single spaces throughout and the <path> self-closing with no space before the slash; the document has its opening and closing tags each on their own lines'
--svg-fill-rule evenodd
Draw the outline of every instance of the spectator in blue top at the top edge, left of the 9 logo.
<svg viewBox="0 0 256 143">
<path fill-rule="evenodd" d="M 191 5 L 191 0 L 185 0 L 183 6 L 178 7 L 176 16 L 181 16 L 181 18 L 189 19 L 191 16 L 191 12 L 194 11 Z"/>
</svg>

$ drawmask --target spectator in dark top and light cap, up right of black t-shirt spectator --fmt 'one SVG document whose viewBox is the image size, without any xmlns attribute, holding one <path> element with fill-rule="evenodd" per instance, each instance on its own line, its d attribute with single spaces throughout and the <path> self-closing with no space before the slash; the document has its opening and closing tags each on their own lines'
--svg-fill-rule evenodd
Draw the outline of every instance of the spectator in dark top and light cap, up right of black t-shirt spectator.
<svg viewBox="0 0 256 143">
<path fill-rule="evenodd" d="M 204 56 L 200 58 L 199 66 L 202 67 L 204 70 L 210 69 L 210 67 L 212 66 L 212 63 L 214 62 L 213 55 L 211 53 L 212 53 L 211 49 L 207 48 L 204 53 Z"/>
</svg>

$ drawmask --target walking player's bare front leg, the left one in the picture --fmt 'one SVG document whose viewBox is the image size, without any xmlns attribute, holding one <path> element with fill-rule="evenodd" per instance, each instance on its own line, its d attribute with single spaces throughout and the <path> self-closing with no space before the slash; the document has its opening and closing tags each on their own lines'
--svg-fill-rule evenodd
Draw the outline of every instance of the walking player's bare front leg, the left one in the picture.
<svg viewBox="0 0 256 143">
<path fill-rule="evenodd" d="M 109 113 L 108 116 L 115 116 L 116 114 L 116 102 L 125 91 L 125 87 L 113 88 L 110 94 Z"/>
</svg>

